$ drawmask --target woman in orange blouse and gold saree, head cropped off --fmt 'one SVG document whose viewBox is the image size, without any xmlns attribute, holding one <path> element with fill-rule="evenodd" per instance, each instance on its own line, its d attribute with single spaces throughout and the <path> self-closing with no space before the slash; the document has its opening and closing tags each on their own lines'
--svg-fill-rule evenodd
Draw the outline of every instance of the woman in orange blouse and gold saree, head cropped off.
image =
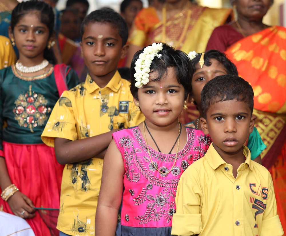
<svg viewBox="0 0 286 236">
<path fill-rule="evenodd" d="M 161 9 L 148 7 L 135 17 L 130 33 L 127 66 L 135 52 L 154 42 L 164 42 L 185 53 L 205 51 L 213 29 L 224 24 L 231 9 L 198 6 L 194 0 L 166 0 Z"/>
</svg>

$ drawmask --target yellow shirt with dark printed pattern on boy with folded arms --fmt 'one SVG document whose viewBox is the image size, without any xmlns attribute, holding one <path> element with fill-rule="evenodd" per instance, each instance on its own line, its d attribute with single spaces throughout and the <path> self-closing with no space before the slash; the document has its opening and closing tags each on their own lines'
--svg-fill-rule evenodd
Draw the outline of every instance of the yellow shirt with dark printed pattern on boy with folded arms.
<svg viewBox="0 0 286 236">
<path fill-rule="evenodd" d="M 77 140 L 136 126 L 144 116 L 135 109 L 130 83 L 118 72 L 104 88 L 88 75 L 84 83 L 63 92 L 41 138 L 54 146 L 54 138 Z M 94 235 L 102 165 L 96 157 L 65 165 L 57 229 L 68 235 Z"/>
</svg>

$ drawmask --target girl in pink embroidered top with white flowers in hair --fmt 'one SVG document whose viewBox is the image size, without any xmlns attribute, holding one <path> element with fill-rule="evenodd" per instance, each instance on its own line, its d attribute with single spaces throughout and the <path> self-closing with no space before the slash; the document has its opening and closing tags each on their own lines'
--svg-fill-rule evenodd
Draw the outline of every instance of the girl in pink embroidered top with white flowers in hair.
<svg viewBox="0 0 286 236">
<path fill-rule="evenodd" d="M 202 131 L 178 122 L 191 72 L 187 55 L 166 44 L 153 43 L 134 55 L 130 90 L 146 120 L 112 134 L 95 235 L 170 235 L 179 178 L 210 143 Z"/>
</svg>

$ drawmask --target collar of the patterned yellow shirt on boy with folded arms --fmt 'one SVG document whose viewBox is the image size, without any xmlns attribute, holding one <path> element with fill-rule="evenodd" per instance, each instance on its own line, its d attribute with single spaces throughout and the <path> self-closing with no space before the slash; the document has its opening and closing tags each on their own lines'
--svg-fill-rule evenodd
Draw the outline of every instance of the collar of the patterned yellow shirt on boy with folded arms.
<svg viewBox="0 0 286 236">
<path fill-rule="evenodd" d="M 111 80 L 108 82 L 108 84 L 104 88 L 110 88 L 113 92 L 118 92 L 122 84 L 121 80 L 122 78 L 119 72 L 116 70 L 114 76 L 111 78 Z M 94 82 L 94 80 L 92 80 L 89 73 L 86 76 L 86 81 L 84 82 L 84 85 L 86 87 L 86 90 L 89 93 L 92 93 L 97 89 L 103 89 L 103 88 L 100 88 L 98 84 Z"/>
</svg>

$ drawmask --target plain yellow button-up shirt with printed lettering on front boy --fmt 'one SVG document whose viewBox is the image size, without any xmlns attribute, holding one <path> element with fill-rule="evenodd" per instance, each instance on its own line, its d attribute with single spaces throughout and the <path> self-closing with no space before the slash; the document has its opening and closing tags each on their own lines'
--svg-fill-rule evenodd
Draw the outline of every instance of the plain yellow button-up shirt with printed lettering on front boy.
<svg viewBox="0 0 286 236">
<path fill-rule="evenodd" d="M 212 144 L 187 168 L 178 183 L 172 235 L 283 235 L 271 175 L 245 146 L 243 154 L 236 178 Z"/>
</svg>

